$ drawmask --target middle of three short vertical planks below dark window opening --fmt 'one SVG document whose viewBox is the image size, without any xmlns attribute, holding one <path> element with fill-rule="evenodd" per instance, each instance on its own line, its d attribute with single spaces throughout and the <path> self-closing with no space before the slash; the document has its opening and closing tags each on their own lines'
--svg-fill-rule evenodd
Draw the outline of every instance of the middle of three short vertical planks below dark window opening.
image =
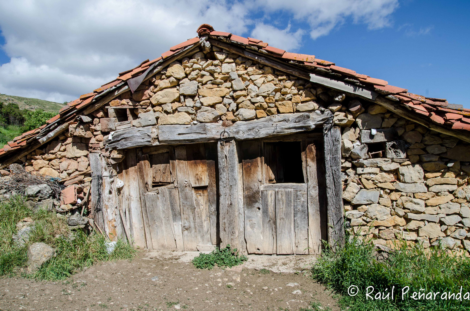
<svg viewBox="0 0 470 311">
<path fill-rule="evenodd" d="M 276 252 L 294 253 L 294 198 L 291 189 L 276 190 Z"/>
</svg>

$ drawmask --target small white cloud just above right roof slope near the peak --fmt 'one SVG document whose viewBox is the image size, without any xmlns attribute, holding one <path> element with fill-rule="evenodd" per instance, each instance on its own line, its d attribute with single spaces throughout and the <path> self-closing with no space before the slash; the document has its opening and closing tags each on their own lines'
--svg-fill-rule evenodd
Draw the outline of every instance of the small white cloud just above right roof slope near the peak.
<svg viewBox="0 0 470 311">
<path fill-rule="evenodd" d="M 268 42 L 272 47 L 282 48 L 286 51 L 293 51 L 301 46 L 304 30 L 298 29 L 295 32 L 290 31 L 290 24 L 286 29 L 278 29 L 273 25 L 257 23 L 251 31 L 251 37 Z"/>
</svg>

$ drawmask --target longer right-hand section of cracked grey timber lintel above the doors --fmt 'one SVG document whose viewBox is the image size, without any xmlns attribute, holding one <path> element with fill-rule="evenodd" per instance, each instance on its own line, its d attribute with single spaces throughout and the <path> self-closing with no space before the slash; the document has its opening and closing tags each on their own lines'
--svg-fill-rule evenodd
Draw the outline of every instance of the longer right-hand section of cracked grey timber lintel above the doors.
<svg viewBox="0 0 470 311">
<path fill-rule="evenodd" d="M 229 127 L 223 127 L 218 123 L 160 125 L 158 126 L 158 142 L 160 144 L 196 143 L 216 141 L 220 138 L 248 140 L 286 135 L 313 130 L 315 126 L 326 122 L 329 116 L 331 116 L 329 110 L 324 112 L 315 110 L 313 113 L 282 114 L 257 120 L 238 121 Z"/>
</svg>

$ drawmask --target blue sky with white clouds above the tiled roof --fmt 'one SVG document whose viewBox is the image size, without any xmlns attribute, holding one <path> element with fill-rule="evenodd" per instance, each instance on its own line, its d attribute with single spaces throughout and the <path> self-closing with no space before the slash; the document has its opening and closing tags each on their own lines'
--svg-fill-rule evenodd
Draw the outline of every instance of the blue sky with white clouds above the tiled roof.
<svg viewBox="0 0 470 311">
<path fill-rule="evenodd" d="M 0 92 L 70 101 L 211 23 L 470 108 L 470 1 L 111 2 L 0 3 Z"/>
</svg>

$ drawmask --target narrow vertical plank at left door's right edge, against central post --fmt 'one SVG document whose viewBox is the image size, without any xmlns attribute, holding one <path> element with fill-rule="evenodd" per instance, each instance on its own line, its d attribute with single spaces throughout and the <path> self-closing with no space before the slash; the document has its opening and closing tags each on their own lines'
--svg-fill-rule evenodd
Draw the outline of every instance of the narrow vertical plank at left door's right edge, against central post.
<svg viewBox="0 0 470 311">
<path fill-rule="evenodd" d="M 207 196 L 209 203 L 209 219 L 211 223 L 211 243 L 216 245 L 220 244 L 219 239 L 219 218 L 217 215 L 217 144 L 205 144 L 206 159 L 207 159 Z"/>
</svg>

